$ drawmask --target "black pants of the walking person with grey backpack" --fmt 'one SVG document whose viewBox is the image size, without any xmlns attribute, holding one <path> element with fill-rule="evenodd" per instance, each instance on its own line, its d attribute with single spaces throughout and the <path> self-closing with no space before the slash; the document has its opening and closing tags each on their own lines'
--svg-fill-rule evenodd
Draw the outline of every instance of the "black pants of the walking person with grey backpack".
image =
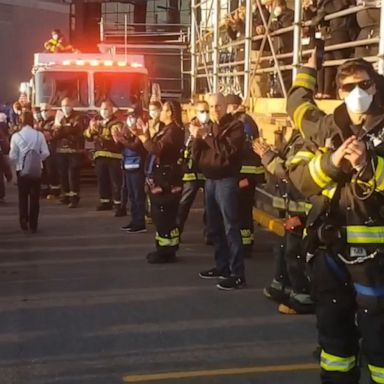
<svg viewBox="0 0 384 384">
<path fill-rule="evenodd" d="M 40 211 L 40 179 L 17 177 L 20 225 L 36 230 Z"/>
</svg>

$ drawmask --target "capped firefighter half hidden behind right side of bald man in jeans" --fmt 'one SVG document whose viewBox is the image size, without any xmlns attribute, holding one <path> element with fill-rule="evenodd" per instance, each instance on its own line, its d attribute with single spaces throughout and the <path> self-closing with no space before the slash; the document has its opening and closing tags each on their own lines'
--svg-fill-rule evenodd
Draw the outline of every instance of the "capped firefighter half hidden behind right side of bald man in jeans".
<svg viewBox="0 0 384 384">
<path fill-rule="evenodd" d="M 261 165 L 260 157 L 252 150 L 252 142 L 259 137 L 259 129 L 252 117 L 245 112 L 240 96 L 227 95 L 226 103 L 227 112 L 243 123 L 245 132 L 242 166 L 239 176 L 240 231 L 244 256 L 251 257 L 254 241 L 253 206 L 255 203 L 255 188 L 257 183 L 264 180 L 264 168 Z"/>
</svg>

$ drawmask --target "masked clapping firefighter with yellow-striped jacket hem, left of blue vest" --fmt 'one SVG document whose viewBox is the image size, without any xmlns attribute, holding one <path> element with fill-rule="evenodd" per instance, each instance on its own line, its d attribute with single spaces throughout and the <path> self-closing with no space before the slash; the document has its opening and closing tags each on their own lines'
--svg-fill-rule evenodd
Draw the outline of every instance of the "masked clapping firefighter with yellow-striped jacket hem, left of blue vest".
<svg viewBox="0 0 384 384">
<path fill-rule="evenodd" d="M 97 211 L 115 209 L 115 216 L 123 215 L 121 209 L 122 147 L 113 140 L 113 131 L 120 130 L 123 123 L 113 114 L 110 101 L 103 101 L 100 115 L 92 119 L 84 132 L 87 140 L 95 143 L 95 168 L 100 203 Z"/>
</svg>

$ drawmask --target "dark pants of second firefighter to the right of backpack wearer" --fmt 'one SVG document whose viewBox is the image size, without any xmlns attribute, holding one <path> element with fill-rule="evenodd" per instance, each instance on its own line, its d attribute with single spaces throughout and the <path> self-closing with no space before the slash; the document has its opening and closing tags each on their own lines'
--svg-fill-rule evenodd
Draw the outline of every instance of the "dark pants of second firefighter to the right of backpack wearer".
<svg viewBox="0 0 384 384">
<path fill-rule="evenodd" d="M 63 195 L 77 198 L 79 197 L 81 163 L 82 157 L 79 153 L 57 154 L 61 193 Z"/>
</svg>

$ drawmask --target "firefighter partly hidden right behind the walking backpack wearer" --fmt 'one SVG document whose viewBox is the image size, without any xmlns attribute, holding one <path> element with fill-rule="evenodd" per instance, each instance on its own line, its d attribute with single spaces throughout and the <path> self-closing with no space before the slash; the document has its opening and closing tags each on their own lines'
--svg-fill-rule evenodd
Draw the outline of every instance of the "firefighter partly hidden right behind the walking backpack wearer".
<svg viewBox="0 0 384 384">
<path fill-rule="evenodd" d="M 43 165 L 43 180 L 48 185 L 47 200 L 56 199 L 60 196 L 60 177 L 57 166 L 56 141 L 53 140 L 53 126 L 55 123 L 55 112 L 47 103 L 40 104 L 41 121 L 38 129 L 43 133 L 48 144 L 49 156 Z"/>
</svg>

